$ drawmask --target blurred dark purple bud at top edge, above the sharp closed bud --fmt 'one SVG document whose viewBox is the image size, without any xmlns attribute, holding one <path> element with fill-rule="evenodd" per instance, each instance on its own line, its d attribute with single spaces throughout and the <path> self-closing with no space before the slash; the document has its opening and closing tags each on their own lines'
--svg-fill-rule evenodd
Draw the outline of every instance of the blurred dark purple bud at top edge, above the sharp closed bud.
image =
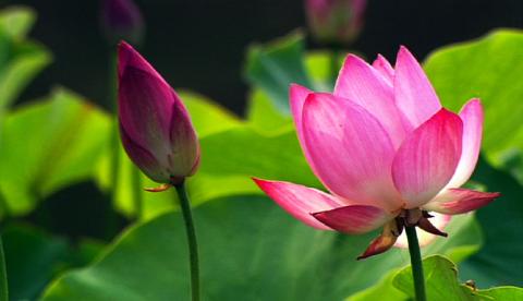
<svg viewBox="0 0 523 301">
<path fill-rule="evenodd" d="M 112 44 L 122 39 L 139 44 L 145 32 L 142 13 L 132 0 L 104 0 L 101 25 Z"/>
</svg>

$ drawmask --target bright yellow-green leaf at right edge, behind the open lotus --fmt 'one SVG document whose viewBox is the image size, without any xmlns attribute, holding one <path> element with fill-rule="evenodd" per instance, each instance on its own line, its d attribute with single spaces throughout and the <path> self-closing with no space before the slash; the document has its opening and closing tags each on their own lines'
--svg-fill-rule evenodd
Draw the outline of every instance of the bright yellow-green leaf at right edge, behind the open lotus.
<svg viewBox="0 0 523 301">
<path fill-rule="evenodd" d="M 483 150 L 523 182 L 523 32 L 497 31 L 472 43 L 445 47 L 425 63 L 445 106 L 459 110 L 472 97 L 485 107 Z"/>
</svg>

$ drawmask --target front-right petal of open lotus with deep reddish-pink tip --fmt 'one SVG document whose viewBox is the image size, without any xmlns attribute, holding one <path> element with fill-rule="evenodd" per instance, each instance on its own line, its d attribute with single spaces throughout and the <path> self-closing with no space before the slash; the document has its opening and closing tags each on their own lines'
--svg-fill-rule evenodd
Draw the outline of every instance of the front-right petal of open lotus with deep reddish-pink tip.
<svg viewBox="0 0 523 301">
<path fill-rule="evenodd" d="M 392 178 L 406 203 L 416 208 L 449 182 L 461 157 L 463 123 L 440 109 L 403 142 L 392 164 Z"/>
</svg>

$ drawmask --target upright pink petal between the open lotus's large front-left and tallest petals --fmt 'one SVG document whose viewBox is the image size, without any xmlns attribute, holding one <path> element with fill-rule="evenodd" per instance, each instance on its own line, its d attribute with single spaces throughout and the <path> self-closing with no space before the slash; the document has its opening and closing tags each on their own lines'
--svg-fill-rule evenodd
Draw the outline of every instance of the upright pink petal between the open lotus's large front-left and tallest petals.
<svg viewBox="0 0 523 301">
<path fill-rule="evenodd" d="M 356 56 L 346 57 L 333 94 L 356 103 L 376 117 L 396 148 L 406 132 L 411 131 L 410 124 L 403 122 L 405 119 L 396 107 L 390 81 Z"/>
</svg>

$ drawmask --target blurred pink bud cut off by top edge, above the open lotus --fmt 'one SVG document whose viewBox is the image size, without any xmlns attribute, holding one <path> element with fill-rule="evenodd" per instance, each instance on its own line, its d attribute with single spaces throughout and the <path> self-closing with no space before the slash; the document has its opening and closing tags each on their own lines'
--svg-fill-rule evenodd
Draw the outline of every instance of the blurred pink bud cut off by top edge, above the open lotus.
<svg viewBox="0 0 523 301">
<path fill-rule="evenodd" d="M 324 44 L 352 43 L 363 27 L 366 0 L 306 0 L 308 25 Z"/>
</svg>

